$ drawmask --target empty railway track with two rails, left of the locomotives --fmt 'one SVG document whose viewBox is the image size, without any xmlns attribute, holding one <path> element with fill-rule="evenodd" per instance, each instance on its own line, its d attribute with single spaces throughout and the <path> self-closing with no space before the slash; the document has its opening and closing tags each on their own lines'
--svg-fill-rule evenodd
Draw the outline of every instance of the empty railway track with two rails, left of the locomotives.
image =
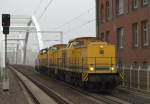
<svg viewBox="0 0 150 104">
<path fill-rule="evenodd" d="M 46 87 L 45 85 L 43 85 L 39 81 L 34 80 L 33 78 L 25 75 L 23 72 L 20 72 L 20 71 L 16 70 L 15 68 L 10 67 L 10 69 L 13 70 L 13 72 L 15 73 L 17 78 L 20 80 L 21 84 L 25 87 L 25 89 L 27 90 L 28 94 L 30 95 L 30 97 L 32 98 L 32 100 L 34 101 L 35 104 L 42 104 L 42 103 L 40 103 L 40 101 L 30 91 L 30 89 L 27 87 L 27 85 L 24 83 L 24 81 L 21 80 L 21 78 L 16 74 L 15 71 L 17 71 L 17 73 L 22 73 L 24 77 L 31 80 L 36 86 L 38 86 L 42 91 L 44 91 L 49 97 L 51 97 L 54 101 L 56 101 L 57 104 L 72 104 L 71 102 L 69 102 L 66 99 L 62 98 L 60 95 L 56 94 L 55 92 L 53 92 L 51 89 L 49 89 L 48 87 Z"/>
</svg>

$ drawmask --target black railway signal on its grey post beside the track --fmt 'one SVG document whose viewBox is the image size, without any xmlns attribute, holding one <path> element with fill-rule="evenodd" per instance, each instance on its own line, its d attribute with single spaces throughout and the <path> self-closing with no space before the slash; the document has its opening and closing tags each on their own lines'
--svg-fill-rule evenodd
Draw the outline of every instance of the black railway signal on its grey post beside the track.
<svg viewBox="0 0 150 104">
<path fill-rule="evenodd" d="M 9 34 L 10 27 L 10 14 L 2 14 L 3 34 L 5 35 L 5 68 L 3 73 L 3 91 L 9 91 L 9 78 L 8 78 L 8 62 L 7 62 L 7 35 Z"/>
</svg>

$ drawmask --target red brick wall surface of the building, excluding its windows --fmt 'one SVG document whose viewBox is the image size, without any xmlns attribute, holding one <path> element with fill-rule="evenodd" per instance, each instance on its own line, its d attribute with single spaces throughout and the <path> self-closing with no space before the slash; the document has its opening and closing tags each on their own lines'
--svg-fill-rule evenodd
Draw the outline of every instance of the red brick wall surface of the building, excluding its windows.
<svg viewBox="0 0 150 104">
<path fill-rule="evenodd" d="M 107 0 L 99 0 L 99 5 L 104 4 Z M 124 48 L 120 51 L 122 61 L 125 64 L 132 64 L 136 61 L 138 64 L 142 64 L 144 61 L 150 63 L 150 25 L 149 28 L 149 46 L 142 47 L 141 40 L 141 22 L 143 20 L 148 20 L 150 23 L 150 7 L 139 7 L 137 10 L 132 10 L 132 0 L 129 0 L 129 8 L 128 5 L 126 6 L 126 10 L 129 12 L 127 14 L 116 16 L 116 5 L 115 1 L 113 0 L 113 19 L 106 21 L 104 23 L 100 23 L 100 26 L 97 28 L 99 29 L 99 33 L 97 36 L 106 31 L 110 32 L 109 40 L 111 43 L 117 43 L 117 28 L 123 27 L 124 28 Z M 99 7 L 98 7 L 99 8 Z M 105 8 L 105 7 L 104 7 Z M 100 9 L 100 8 L 99 8 Z M 99 13 L 99 12 L 97 12 Z M 100 19 L 100 14 L 97 15 L 97 19 Z M 133 48 L 133 36 L 132 36 L 132 24 L 138 23 L 139 25 L 139 47 Z"/>
</svg>

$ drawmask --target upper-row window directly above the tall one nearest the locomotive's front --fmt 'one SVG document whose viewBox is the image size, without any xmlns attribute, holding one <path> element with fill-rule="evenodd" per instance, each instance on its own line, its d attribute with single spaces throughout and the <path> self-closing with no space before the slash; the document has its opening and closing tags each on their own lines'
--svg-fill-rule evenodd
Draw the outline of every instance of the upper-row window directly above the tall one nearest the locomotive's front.
<svg viewBox="0 0 150 104">
<path fill-rule="evenodd" d="M 124 13 L 124 0 L 116 0 L 116 8 L 117 8 L 117 14 L 121 15 Z"/>
</svg>

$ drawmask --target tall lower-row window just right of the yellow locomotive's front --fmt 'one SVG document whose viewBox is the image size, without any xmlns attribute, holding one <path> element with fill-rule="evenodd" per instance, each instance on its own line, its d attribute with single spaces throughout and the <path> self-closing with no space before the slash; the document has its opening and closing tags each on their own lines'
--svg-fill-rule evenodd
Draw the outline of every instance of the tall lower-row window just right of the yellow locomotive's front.
<svg viewBox="0 0 150 104">
<path fill-rule="evenodd" d="M 124 43 L 124 28 L 118 28 L 117 29 L 117 45 L 118 48 L 123 48 L 123 43 Z"/>
</svg>

